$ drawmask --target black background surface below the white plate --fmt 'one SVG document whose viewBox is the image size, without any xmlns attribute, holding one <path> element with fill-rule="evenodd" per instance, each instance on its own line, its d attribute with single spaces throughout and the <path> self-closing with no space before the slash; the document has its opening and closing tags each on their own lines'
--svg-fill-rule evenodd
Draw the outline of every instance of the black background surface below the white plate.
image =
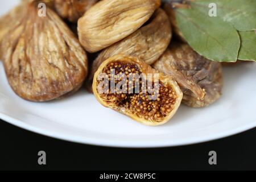
<svg viewBox="0 0 256 182">
<path fill-rule="evenodd" d="M 191 146 L 131 149 L 89 146 L 44 137 L 0 120 L 1 170 L 256 170 L 256 129 Z M 46 151 L 47 165 L 38 165 Z M 217 152 L 210 166 L 208 152 Z"/>
</svg>

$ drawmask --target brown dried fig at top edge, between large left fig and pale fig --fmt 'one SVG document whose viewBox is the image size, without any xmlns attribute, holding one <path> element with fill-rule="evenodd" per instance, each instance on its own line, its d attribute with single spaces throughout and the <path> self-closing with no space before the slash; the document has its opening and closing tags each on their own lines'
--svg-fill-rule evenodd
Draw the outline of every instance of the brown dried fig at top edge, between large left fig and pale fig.
<svg viewBox="0 0 256 182">
<path fill-rule="evenodd" d="M 92 7 L 98 0 L 53 0 L 55 10 L 61 18 L 70 22 L 77 20 Z"/>
</svg>

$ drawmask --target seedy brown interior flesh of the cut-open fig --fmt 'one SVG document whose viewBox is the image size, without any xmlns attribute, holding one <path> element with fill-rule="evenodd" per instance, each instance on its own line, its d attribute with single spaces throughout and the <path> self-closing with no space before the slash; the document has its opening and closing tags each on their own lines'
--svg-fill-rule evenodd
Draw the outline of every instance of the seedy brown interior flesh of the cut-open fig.
<svg viewBox="0 0 256 182">
<path fill-rule="evenodd" d="M 171 85 L 163 84 L 162 81 L 158 80 L 158 86 L 156 86 L 158 89 L 152 93 L 152 88 L 155 86 L 154 78 L 152 78 L 151 86 L 146 86 L 147 92 L 143 92 L 145 85 L 142 77 L 139 77 L 139 80 L 133 77 L 133 82 L 129 81 L 130 75 L 142 74 L 137 64 L 113 61 L 105 66 L 102 73 L 105 73 L 108 77 L 108 85 L 111 85 L 111 77 L 114 73 L 114 92 L 108 87 L 107 92 L 100 94 L 102 100 L 109 104 L 111 102 L 110 105 L 113 109 L 125 109 L 131 114 L 137 115 L 137 117 L 158 122 L 163 121 L 174 109 L 177 95 Z M 125 77 L 123 77 L 124 75 Z M 118 86 L 121 81 L 126 82 L 125 88 L 123 88 L 123 85 Z M 98 80 L 97 85 L 100 82 L 101 80 Z M 135 92 L 135 88 L 138 86 L 137 82 L 139 82 L 139 92 Z M 148 92 L 149 89 L 151 89 L 151 92 Z M 124 90 L 126 92 L 123 92 Z M 154 99 L 152 99 L 152 95 L 155 95 Z"/>
</svg>

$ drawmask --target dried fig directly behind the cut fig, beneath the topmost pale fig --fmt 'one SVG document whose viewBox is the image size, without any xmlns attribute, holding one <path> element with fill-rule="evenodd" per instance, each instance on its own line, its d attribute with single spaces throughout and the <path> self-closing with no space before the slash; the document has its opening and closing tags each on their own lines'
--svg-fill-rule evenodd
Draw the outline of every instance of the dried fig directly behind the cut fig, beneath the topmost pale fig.
<svg viewBox="0 0 256 182">
<path fill-rule="evenodd" d="M 147 64 L 154 63 L 166 50 L 171 41 L 171 26 L 168 17 L 162 9 L 156 10 L 152 21 L 139 28 L 127 38 L 120 40 L 104 49 L 97 59 L 93 61 L 92 71 L 86 81 L 88 90 L 92 89 L 94 73 L 101 63 L 114 55 L 123 54 L 139 57 Z"/>
</svg>

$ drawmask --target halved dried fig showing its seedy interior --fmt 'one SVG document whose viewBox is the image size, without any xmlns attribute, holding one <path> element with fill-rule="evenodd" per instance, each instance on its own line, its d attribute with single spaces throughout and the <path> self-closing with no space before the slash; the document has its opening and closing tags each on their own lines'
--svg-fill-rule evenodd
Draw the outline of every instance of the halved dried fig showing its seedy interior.
<svg viewBox="0 0 256 182">
<path fill-rule="evenodd" d="M 101 64 L 94 75 L 93 93 L 103 106 L 151 126 L 169 121 L 183 96 L 172 77 L 126 55 Z"/>
</svg>

